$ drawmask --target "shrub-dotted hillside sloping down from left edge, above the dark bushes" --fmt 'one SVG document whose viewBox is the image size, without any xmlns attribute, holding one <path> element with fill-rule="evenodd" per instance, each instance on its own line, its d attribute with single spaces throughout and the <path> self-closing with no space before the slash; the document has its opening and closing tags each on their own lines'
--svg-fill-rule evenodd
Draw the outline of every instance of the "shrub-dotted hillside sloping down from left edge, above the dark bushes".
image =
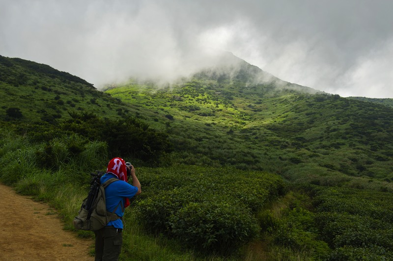
<svg viewBox="0 0 393 261">
<path fill-rule="evenodd" d="M 48 65 L 0 55 L 0 120 L 56 123 L 70 111 L 102 117 L 127 114 L 127 106 L 84 79 Z"/>
</svg>

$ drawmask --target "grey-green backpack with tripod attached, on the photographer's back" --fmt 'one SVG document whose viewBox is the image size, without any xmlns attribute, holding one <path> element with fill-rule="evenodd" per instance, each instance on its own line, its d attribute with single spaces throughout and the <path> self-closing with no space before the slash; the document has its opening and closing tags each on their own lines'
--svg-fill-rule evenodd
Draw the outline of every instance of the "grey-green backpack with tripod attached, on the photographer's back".
<svg viewBox="0 0 393 261">
<path fill-rule="evenodd" d="M 92 174 L 92 176 L 95 175 Z M 102 173 L 99 173 L 93 178 L 90 192 L 84 199 L 78 216 L 74 218 L 75 229 L 97 231 L 105 227 L 110 221 L 121 218 L 114 213 L 119 205 L 122 207 L 121 201 L 112 212 L 107 211 L 105 203 L 105 188 L 112 182 L 118 181 L 118 179 L 111 178 L 101 184 L 101 176 Z"/>
</svg>

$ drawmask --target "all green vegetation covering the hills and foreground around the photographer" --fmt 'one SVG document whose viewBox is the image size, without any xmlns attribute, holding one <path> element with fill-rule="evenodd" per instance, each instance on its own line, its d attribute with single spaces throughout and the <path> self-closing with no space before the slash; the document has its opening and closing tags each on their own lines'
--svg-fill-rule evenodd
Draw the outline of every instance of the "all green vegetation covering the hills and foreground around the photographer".
<svg viewBox="0 0 393 261">
<path fill-rule="evenodd" d="M 265 77 L 238 61 L 100 92 L 0 56 L 0 182 L 73 230 L 89 173 L 132 161 L 122 260 L 392 259 L 392 107 Z"/>
</svg>

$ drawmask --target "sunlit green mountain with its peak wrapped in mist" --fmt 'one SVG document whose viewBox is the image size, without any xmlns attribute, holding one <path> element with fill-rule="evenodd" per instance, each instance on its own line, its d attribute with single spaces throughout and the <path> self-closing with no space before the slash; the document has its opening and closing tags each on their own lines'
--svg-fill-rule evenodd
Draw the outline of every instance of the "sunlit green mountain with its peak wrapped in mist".
<svg viewBox="0 0 393 261">
<path fill-rule="evenodd" d="M 393 178 L 391 107 L 318 94 L 230 59 L 170 87 L 130 81 L 106 92 L 168 131 L 175 162 L 268 170 L 299 182 Z"/>
</svg>

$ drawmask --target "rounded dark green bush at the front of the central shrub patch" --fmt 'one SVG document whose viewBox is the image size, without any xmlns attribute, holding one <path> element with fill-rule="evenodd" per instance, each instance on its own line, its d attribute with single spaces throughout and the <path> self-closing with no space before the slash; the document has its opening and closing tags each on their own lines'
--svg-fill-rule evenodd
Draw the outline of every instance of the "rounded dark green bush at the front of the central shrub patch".
<svg viewBox="0 0 393 261">
<path fill-rule="evenodd" d="M 225 203 L 190 203 L 169 217 L 171 234 L 206 252 L 231 253 L 257 235 L 255 218 Z"/>
</svg>

